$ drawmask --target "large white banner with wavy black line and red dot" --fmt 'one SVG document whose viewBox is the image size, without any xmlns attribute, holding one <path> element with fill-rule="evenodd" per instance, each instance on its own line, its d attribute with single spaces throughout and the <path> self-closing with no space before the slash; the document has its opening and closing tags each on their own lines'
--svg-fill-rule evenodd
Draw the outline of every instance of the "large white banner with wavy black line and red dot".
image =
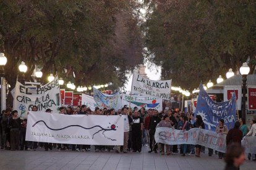
<svg viewBox="0 0 256 170">
<path fill-rule="evenodd" d="M 122 116 L 62 115 L 30 111 L 27 141 L 58 144 L 123 145 Z"/>
</svg>

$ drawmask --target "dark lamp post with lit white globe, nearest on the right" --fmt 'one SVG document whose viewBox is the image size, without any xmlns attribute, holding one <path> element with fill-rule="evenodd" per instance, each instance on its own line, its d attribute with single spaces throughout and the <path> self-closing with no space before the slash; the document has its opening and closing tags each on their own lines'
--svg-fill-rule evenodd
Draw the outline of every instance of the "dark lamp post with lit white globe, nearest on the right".
<svg viewBox="0 0 256 170">
<path fill-rule="evenodd" d="M 243 63 L 242 67 L 240 68 L 240 73 L 242 75 L 242 118 L 245 119 L 246 115 L 246 81 L 247 81 L 247 75 L 250 72 L 250 67 L 247 65 L 247 63 Z"/>
</svg>

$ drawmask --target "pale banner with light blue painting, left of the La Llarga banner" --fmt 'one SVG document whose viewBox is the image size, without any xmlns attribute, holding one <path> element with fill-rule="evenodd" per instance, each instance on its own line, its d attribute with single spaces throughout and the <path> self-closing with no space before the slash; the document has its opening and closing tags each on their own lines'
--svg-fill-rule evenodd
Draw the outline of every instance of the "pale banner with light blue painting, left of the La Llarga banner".
<svg viewBox="0 0 256 170">
<path fill-rule="evenodd" d="M 114 108 L 115 110 L 122 108 L 122 101 L 119 92 L 113 95 L 103 94 L 101 91 L 93 87 L 93 98 L 101 108 Z"/>
</svg>

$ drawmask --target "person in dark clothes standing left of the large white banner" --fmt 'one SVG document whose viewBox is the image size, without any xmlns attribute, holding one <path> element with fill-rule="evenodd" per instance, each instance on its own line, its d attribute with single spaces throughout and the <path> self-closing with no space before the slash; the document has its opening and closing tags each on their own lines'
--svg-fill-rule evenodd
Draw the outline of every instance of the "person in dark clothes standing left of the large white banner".
<svg viewBox="0 0 256 170">
<path fill-rule="evenodd" d="M 12 111 L 12 116 L 10 119 L 10 128 L 11 128 L 11 150 L 19 150 L 20 144 L 20 125 L 21 120 L 18 117 L 18 111 Z"/>
</svg>

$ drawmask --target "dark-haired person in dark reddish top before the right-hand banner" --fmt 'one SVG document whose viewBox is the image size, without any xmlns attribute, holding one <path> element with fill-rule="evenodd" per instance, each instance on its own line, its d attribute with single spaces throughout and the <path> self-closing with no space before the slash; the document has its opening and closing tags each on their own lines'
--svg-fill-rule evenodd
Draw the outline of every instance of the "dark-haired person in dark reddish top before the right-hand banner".
<svg viewBox="0 0 256 170">
<path fill-rule="evenodd" d="M 228 131 L 228 134 L 226 136 L 227 146 L 231 143 L 237 143 L 241 145 L 242 131 L 239 129 L 239 127 L 240 127 L 240 123 L 239 121 L 236 121 L 236 123 L 234 124 L 234 128 Z"/>
</svg>

